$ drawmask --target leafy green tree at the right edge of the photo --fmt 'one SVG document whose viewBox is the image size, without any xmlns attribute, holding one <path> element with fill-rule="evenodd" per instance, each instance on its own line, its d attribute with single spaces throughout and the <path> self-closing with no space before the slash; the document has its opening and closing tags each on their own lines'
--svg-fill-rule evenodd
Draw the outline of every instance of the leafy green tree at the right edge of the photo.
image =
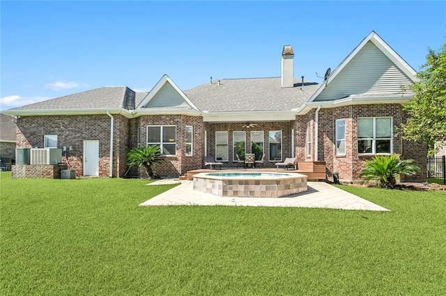
<svg viewBox="0 0 446 296">
<path fill-rule="evenodd" d="M 429 49 L 426 64 L 410 86 L 415 95 L 404 106 L 410 117 L 403 124 L 403 138 L 423 141 L 429 154 L 446 144 L 446 42 L 440 50 Z"/>
</svg>

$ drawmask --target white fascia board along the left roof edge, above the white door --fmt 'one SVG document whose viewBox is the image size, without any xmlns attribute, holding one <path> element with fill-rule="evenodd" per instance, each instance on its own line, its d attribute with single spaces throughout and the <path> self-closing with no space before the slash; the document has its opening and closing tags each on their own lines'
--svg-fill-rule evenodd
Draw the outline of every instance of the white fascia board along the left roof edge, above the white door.
<svg viewBox="0 0 446 296">
<path fill-rule="evenodd" d="M 47 110 L 4 110 L 1 113 L 12 116 L 39 116 L 39 115 L 91 115 L 91 114 L 120 114 L 131 118 L 132 113 L 124 108 L 96 108 L 96 109 L 47 109 Z"/>
</svg>

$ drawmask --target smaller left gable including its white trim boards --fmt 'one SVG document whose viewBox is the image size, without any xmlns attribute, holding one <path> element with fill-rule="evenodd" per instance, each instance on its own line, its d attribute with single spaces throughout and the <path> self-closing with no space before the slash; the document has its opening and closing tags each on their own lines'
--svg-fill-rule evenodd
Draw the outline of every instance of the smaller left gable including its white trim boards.
<svg viewBox="0 0 446 296">
<path fill-rule="evenodd" d="M 136 110 L 140 111 L 143 108 L 192 108 L 199 110 L 167 74 L 164 74 L 153 89 L 148 92 L 146 97 L 137 105 Z"/>
</svg>

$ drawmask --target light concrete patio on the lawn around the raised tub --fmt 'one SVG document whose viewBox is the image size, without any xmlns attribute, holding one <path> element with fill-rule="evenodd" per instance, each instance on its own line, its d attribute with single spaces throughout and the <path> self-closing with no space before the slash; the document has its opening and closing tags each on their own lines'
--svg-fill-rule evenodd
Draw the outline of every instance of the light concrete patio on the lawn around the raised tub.
<svg viewBox="0 0 446 296">
<path fill-rule="evenodd" d="M 279 198 L 220 197 L 193 190 L 193 181 L 162 179 L 149 186 L 180 183 L 139 206 L 291 206 L 298 208 L 335 208 L 343 210 L 390 211 L 325 182 L 308 182 L 308 190 Z"/>
</svg>

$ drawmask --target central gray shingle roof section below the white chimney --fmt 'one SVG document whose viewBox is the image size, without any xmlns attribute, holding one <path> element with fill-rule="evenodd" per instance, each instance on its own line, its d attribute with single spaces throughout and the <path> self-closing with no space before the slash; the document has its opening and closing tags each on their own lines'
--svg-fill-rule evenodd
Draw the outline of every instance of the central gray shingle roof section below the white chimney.
<svg viewBox="0 0 446 296">
<path fill-rule="evenodd" d="M 295 79 L 293 88 L 282 88 L 280 77 L 220 79 L 186 90 L 200 110 L 208 112 L 291 110 L 300 107 L 318 88 L 317 83 Z M 300 90 L 302 87 L 302 91 Z"/>
</svg>

